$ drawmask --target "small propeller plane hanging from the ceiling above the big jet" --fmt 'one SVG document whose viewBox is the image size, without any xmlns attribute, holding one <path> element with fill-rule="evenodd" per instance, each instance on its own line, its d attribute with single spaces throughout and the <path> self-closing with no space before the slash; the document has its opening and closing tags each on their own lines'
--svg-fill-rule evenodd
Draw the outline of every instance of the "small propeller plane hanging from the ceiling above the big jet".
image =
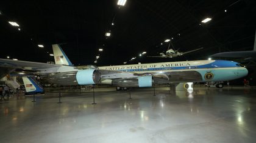
<svg viewBox="0 0 256 143">
<path fill-rule="evenodd" d="M 179 52 L 178 50 L 173 50 L 172 48 L 171 49 L 168 49 L 164 54 L 164 53 L 160 53 L 160 56 L 148 56 L 148 57 L 155 57 L 155 58 L 174 58 L 174 57 L 177 57 L 177 56 L 182 56 L 182 55 L 185 55 L 187 53 L 191 53 L 191 52 L 196 52 L 198 50 L 201 50 L 202 48 L 197 48 L 195 50 L 191 50 L 191 51 L 188 51 L 188 52 Z"/>
</svg>

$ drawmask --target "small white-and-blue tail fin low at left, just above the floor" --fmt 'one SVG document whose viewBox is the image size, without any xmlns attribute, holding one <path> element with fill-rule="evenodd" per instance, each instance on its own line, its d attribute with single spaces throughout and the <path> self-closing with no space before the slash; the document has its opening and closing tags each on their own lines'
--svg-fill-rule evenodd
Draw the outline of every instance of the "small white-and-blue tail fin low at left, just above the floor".
<svg viewBox="0 0 256 143">
<path fill-rule="evenodd" d="M 23 76 L 24 87 L 26 89 L 26 93 L 42 93 L 43 87 L 38 84 L 32 77 Z"/>
</svg>

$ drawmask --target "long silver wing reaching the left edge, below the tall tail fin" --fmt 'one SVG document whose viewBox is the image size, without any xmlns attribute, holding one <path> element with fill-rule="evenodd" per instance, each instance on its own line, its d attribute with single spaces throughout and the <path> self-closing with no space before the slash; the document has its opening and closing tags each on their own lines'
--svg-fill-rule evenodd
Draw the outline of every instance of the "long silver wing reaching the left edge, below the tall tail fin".
<svg viewBox="0 0 256 143">
<path fill-rule="evenodd" d="M 0 67 L 21 68 L 24 70 L 41 71 L 49 68 L 61 67 L 62 65 L 47 64 L 40 62 L 14 61 L 12 59 L 0 59 Z"/>
</svg>

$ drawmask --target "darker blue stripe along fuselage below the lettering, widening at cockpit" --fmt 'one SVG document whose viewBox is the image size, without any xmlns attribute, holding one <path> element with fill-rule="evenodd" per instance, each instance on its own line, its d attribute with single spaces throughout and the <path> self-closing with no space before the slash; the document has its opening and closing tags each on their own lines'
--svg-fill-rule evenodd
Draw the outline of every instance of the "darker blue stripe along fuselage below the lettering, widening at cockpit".
<svg viewBox="0 0 256 143">
<path fill-rule="evenodd" d="M 205 65 L 191 65 L 191 66 L 183 66 L 183 67 L 155 67 L 155 68 L 146 68 L 143 70 L 141 68 L 138 69 L 123 69 L 119 71 L 153 71 L 153 70 L 185 70 L 185 69 L 199 69 L 199 68 L 224 68 L 224 67 L 241 67 L 238 65 L 238 62 L 233 61 L 224 61 L 224 60 L 215 60 L 209 64 Z"/>
</svg>

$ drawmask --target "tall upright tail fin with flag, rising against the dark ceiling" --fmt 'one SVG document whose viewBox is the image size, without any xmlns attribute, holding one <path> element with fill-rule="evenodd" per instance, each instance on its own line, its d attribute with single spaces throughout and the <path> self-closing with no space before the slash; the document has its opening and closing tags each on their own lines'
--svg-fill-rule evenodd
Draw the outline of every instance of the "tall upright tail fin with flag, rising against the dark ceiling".
<svg viewBox="0 0 256 143">
<path fill-rule="evenodd" d="M 52 45 L 52 50 L 54 52 L 55 64 L 73 66 L 73 64 L 69 61 L 68 57 L 63 52 L 62 47 L 60 47 L 59 44 Z"/>
</svg>

